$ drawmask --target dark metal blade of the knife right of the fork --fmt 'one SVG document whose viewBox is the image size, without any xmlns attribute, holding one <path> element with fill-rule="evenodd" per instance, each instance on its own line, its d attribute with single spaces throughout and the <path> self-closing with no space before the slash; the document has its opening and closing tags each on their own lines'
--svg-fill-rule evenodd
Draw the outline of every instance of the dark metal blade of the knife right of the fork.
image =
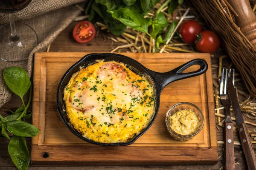
<svg viewBox="0 0 256 170">
<path fill-rule="evenodd" d="M 232 76 L 230 76 L 228 79 L 228 90 L 229 90 L 229 95 L 230 95 L 231 103 L 233 106 L 233 110 L 236 113 L 236 125 L 239 126 L 242 123 L 244 123 L 244 118 L 242 116 L 239 101 L 236 96 L 236 89 L 232 81 Z"/>
</svg>

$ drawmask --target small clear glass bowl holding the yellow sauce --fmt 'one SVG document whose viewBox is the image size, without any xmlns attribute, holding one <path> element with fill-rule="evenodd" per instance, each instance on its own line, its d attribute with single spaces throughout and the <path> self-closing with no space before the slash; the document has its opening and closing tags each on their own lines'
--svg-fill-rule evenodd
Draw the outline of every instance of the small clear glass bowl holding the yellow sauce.
<svg viewBox="0 0 256 170">
<path fill-rule="evenodd" d="M 200 123 L 200 125 L 198 126 L 198 129 L 195 131 L 195 133 L 192 133 L 190 135 L 181 135 L 179 133 L 176 133 L 174 130 L 172 130 L 172 128 L 170 126 L 170 116 L 172 116 L 177 111 L 185 110 L 185 109 L 191 109 L 193 112 L 195 112 L 195 114 L 198 116 L 198 120 Z M 189 103 L 189 102 L 177 103 L 177 104 L 173 105 L 171 108 L 169 108 L 169 110 L 166 113 L 166 127 L 167 127 L 168 132 L 174 139 L 179 140 L 179 141 L 188 141 L 189 139 L 191 139 L 192 137 L 197 135 L 204 127 L 204 115 L 203 115 L 202 111 L 196 105 L 194 105 L 192 103 Z"/>
</svg>

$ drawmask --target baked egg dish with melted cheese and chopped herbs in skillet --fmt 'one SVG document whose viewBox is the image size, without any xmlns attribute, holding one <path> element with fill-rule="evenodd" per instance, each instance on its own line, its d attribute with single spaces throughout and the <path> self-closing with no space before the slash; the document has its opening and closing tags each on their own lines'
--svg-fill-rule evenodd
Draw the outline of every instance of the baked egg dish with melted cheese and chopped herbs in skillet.
<svg viewBox="0 0 256 170">
<path fill-rule="evenodd" d="M 127 142 L 151 122 L 152 85 L 122 62 L 98 61 L 73 74 L 64 89 L 70 123 L 85 138 Z"/>
</svg>

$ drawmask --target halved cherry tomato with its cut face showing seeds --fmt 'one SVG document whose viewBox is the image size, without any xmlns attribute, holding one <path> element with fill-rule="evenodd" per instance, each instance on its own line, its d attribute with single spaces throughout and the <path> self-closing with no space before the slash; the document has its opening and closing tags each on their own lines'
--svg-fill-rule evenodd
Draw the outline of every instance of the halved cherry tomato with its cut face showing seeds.
<svg viewBox="0 0 256 170">
<path fill-rule="evenodd" d="M 73 37 L 79 43 L 86 43 L 93 40 L 95 34 L 95 27 L 89 21 L 82 21 L 73 29 Z"/>
</svg>

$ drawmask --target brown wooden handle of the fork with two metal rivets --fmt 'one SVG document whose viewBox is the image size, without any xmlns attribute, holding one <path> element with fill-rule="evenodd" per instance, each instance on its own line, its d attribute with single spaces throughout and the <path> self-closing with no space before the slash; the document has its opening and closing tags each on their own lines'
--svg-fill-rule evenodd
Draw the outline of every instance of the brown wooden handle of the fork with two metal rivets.
<svg viewBox="0 0 256 170">
<path fill-rule="evenodd" d="M 225 122 L 225 170 L 235 169 L 233 123 Z"/>
</svg>

